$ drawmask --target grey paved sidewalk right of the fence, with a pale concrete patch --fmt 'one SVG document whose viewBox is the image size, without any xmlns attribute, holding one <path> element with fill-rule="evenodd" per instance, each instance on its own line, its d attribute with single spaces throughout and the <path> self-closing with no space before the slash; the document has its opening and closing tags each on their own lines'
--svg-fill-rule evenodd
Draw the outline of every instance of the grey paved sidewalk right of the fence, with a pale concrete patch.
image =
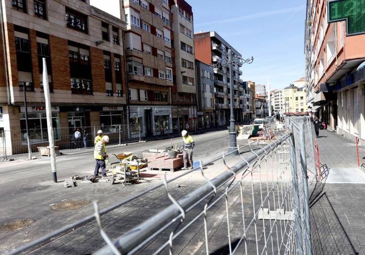
<svg viewBox="0 0 365 255">
<path fill-rule="evenodd" d="M 364 254 L 365 173 L 356 144 L 328 130 L 317 139 L 321 182 L 310 187 L 313 254 Z"/>
</svg>

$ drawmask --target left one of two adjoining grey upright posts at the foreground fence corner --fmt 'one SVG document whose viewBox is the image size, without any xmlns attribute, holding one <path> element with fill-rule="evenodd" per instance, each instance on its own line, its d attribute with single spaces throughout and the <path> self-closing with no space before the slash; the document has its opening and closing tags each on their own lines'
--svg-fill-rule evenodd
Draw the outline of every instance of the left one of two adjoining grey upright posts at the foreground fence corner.
<svg viewBox="0 0 365 255">
<path fill-rule="evenodd" d="M 303 235 L 301 233 L 301 219 L 300 219 L 300 201 L 299 201 L 299 188 L 298 188 L 298 175 L 297 175 L 297 162 L 295 155 L 295 142 L 293 125 L 289 126 L 292 134 L 289 139 L 289 156 L 290 156 L 290 168 L 292 171 L 292 183 L 294 193 L 294 210 L 295 210 L 295 228 L 296 228 L 296 242 L 297 242 L 297 254 L 303 255 Z"/>
</svg>

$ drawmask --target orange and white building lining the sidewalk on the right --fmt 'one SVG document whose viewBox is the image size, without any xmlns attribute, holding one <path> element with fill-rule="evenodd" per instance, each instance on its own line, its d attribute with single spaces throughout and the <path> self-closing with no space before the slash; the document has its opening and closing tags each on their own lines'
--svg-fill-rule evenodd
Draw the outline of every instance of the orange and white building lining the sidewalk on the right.
<svg viewBox="0 0 365 255">
<path fill-rule="evenodd" d="M 361 141 L 365 139 L 365 35 L 348 36 L 350 24 L 346 21 L 328 23 L 327 6 L 332 4 L 327 0 L 307 1 L 307 101 L 328 129 L 350 139 L 360 137 Z M 357 27 L 360 21 L 350 22 Z"/>
</svg>

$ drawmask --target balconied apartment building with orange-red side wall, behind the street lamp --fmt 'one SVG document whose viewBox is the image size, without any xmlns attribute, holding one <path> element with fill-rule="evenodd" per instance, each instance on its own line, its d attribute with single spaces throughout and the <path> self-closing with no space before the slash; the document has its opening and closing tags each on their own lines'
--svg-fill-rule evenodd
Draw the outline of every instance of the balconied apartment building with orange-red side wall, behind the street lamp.
<svg viewBox="0 0 365 255">
<path fill-rule="evenodd" d="M 194 34 L 195 58 L 205 64 L 217 63 L 220 59 L 226 58 L 228 48 L 241 56 L 230 44 L 228 44 L 215 31 L 199 32 Z M 232 73 L 232 81 L 230 81 L 230 73 Z M 221 92 L 215 95 L 215 118 L 218 126 L 228 125 L 230 120 L 230 83 L 234 89 L 234 114 L 235 120 L 238 121 L 242 116 L 242 108 L 240 107 L 239 91 L 243 91 L 243 87 L 239 87 L 239 83 L 243 82 L 239 78 L 242 71 L 238 67 L 219 67 L 213 69 L 213 81 L 215 91 Z"/>
</svg>

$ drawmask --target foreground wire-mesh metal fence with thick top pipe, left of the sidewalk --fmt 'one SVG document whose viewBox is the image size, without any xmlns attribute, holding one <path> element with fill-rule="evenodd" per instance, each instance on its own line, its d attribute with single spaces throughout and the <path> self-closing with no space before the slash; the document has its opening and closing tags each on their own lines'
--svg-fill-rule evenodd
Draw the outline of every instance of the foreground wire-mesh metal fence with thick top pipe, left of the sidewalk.
<svg viewBox="0 0 365 255">
<path fill-rule="evenodd" d="M 85 228 L 88 235 L 92 229 L 100 232 L 101 237 L 97 240 L 93 233 L 92 242 L 98 243 L 95 250 L 87 247 L 88 253 L 95 254 L 178 254 L 189 244 L 200 246 L 195 247 L 196 251 L 206 254 L 218 251 L 226 254 L 312 254 L 309 214 L 303 217 L 309 206 L 308 193 L 305 193 L 308 185 L 306 151 L 303 151 L 306 138 L 303 125 L 298 127 L 301 138 L 291 131 L 295 129 L 293 126 L 278 130 L 273 139 L 238 146 L 239 156 L 235 156 L 236 152 L 223 153 L 210 162 L 203 164 L 200 161 L 198 167 L 169 180 L 165 175 L 163 183 L 111 207 L 99 210 L 95 202 L 95 214 L 32 241 L 11 254 L 45 252 L 50 239 L 72 235 L 72 232 L 66 233 L 86 224 L 89 224 Z M 204 169 L 213 163 L 221 163 L 224 169 L 214 178 L 208 178 Z M 179 195 L 180 191 L 173 188 L 176 181 L 194 173 L 201 174 L 201 185 Z M 158 212 L 151 213 L 152 216 L 141 224 L 132 224 L 128 229 L 124 217 L 118 217 L 117 213 L 123 215 L 128 205 L 142 203 L 153 191 L 165 193 L 166 196 L 159 195 L 159 200 L 163 196 L 164 204 L 170 205 L 158 208 Z M 122 206 L 125 207 L 118 211 Z M 116 211 L 112 213 L 113 210 Z M 94 219 L 97 225 L 91 222 Z M 113 220 L 117 220 L 118 225 L 109 228 Z M 118 233 L 120 236 L 111 241 L 110 235 L 115 237 Z M 82 237 L 87 238 L 87 235 L 79 234 L 77 242 Z M 103 240 L 107 245 L 97 250 Z M 154 240 L 160 240 L 158 246 L 151 244 Z M 63 242 L 60 239 L 57 243 L 62 246 Z M 57 253 L 57 247 L 52 249 L 47 252 Z"/>
</svg>

